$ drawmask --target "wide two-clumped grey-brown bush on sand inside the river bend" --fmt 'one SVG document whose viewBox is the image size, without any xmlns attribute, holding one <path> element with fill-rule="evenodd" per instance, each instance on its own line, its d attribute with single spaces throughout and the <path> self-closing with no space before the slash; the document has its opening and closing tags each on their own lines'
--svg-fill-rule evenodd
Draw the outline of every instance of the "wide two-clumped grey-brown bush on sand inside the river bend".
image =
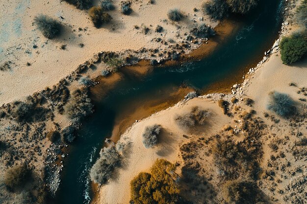
<svg viewBox="0 0 307 204">
<path fill-rule="evenodd" d="M 175 121 L 181 128 L 190 129 L 196 125 L 204 125 L 209 115 L 209 111 L 196 106 L 189 113 L 177 115 Z"/>
</svg>

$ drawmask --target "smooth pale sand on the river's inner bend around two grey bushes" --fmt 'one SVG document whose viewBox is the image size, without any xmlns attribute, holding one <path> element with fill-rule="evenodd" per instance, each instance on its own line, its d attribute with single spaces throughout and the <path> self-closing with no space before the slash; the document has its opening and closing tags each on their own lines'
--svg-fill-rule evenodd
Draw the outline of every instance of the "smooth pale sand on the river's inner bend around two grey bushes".
<svg viewBox="0 0 307 204">
<path fill-rule="evenodd" d="M 210 135 L 230 123 L 231 118 L 224 115 L 217 103 L 207 99 L 195 98 L 186 103 L 179 102 L 172 108 L 153 114 L 152 116 L 134 123 L 127 132 L 121 136 L 121 140 L 131 141 L 127 152 L 124 154 L 124 164 L 114 179 L 103 185 L 98 202 L 99 204 L 128 204 L 130 198 L 130 181 L 138 173 L 148 171 L 153 162 L 158 158 L 164 158 L 171 162 L 179 161 L 179 147 L 182 143 L 189 141 L 183 137 L 195 137 L 179 128 L 174 121 L 176 114 L 186 113 L 193 106 L 200 106 L 211 111 L 212 115 L 205 124 L 202 133 Z M 142 143 L 142 134 L 147 126 L 160 124 L 162 132 L 159 136 L 159 144 L 156 147 L 146 149 Z M 196 134 L 198 135 L 198 134 Z"/>
</svg>

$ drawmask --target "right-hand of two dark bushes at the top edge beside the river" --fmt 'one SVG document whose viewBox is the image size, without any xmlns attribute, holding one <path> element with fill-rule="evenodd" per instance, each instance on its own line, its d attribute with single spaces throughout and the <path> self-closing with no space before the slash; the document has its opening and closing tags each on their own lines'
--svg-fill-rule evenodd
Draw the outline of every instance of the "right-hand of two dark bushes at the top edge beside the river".
<svg viewBox="0 0 307 204">
<path fill-rule="evenodd" d="M 254 8 L 258 0 L 226 0 L 231 12 L 238 14 L 247 14 Z"/>
</svg>

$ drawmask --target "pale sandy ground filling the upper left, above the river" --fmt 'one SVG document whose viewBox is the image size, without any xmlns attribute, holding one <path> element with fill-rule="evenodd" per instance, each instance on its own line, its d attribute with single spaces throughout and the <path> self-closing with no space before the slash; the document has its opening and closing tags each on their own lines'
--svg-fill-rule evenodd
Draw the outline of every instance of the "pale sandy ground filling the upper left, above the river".
<svg viewBox="0 0 307 204">
<path fill-rule="evenodd" d="M 203 2 L 155 0 L 154 4 L 149 4 L 147 0 L 133 0 L 133 12 L 130 16 L 125 16 L 120 14 L 120 1 L 114 0 L 116 9 L 108 12 L 113 18 L 111 23 L 97 29 L 89 20 L 87 11 L 78 10 L 65 1 L 2 0 L 0 65 L 6 61 L 14 64 L 11 65 L 11 71 L 0 73 L 0 104 L 21 99 L 56 84 L 100 51 L 138 50 L 142 47 L 164 49 L 168 45 L 152 39 L 160 37 L 180 43 L 185 39 L 184 33 L 189 33 L 199 23 L 215 26 L 216 23 L 211 23 L 208 18 L 203 22 L 199 20 L 199 17 L 203 17 L 202 11 L 193 11 L 194 7 L 201 9 Z M 179 23 L 170 22 L 167 12 L 173 8 L 179 8 L 187 17 Z M 64 25 L 63 34 L 54 40 L 43 37 L 33 24 L 33 18 L 38 14 L 46 14 L 59 20 Z M 64 19 L 60 19 L 60 16 Z M 134 25 L 141 26 L 142 23 L 151 29 L 147 35 L 134 28 Z M 162 35 L 154 32 L 157 25 L 163 26 Z M 180 29 L 176 25 L 180 25 Z M 79 27 L 87 30 L 78 31 Z M 84 44 L 83 48 L 78 46 L 80 43 Z M 63 44 L 67 45 L 66 50 L 59 48 Z M 33 45 L 38 47 L 34 49 Z M 27 62 L 31 66 L 26 66 Z"/>
</svg>

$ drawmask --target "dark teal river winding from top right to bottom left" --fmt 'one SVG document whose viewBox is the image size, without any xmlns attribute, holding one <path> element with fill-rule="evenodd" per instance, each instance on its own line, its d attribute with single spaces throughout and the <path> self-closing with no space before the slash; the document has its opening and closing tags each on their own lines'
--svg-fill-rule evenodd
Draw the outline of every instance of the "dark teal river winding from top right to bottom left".
<svg viewBox="0 0 307 204">
<path fill-rule="evenodd" d="M 200 61 L 154 68 L 141 77 L 123 72 L 124 79 L 106 97 L 95 101 L 95 113 L 78 131 L 77 140 L 64 162 L 56 204 L 90 202 L 89 169 L 105 137 L 111 136 L 116 118 L 135 104 L 164 97 L 165 92 L 176 90 L 183 82 L 201 91 L 214 82 L 226 80 L 233 73 L 240 73 L 242 68 L 262 56 L 277 38 L 281 27 L 281 7 L 281 0 L 261 0 L 251 14 L 239 18 L 243 20 L 237 33 Z"/>
</svg>

